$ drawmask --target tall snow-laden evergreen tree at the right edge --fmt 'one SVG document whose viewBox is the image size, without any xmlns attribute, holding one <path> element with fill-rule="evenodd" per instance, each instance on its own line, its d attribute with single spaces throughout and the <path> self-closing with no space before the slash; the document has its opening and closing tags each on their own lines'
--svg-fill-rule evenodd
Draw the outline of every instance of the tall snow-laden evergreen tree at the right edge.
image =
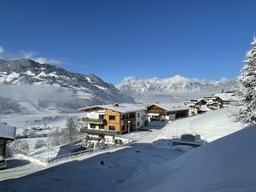
<svg viewBox="0 0 256 192">
<path fill-rule="evenodd" d="M 237 93 L 241 97 L 241 108 L 237 118 L 244 123 L 256 123 L 256 37 L 243 64 L 238 77 Z"/>
</svg>

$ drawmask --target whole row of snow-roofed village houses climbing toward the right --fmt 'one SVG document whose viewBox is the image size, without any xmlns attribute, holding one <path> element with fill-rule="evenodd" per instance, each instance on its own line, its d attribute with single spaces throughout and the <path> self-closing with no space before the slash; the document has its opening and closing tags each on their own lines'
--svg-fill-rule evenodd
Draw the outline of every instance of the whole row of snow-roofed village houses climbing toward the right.
<svg viewBox="0 0 256 192">
<path fill-rule="evenodd" d="M 83 128 L 80 131 L 91 138 L 99 140 L 104 138 L 112 143 L 117 134 L 143 129 L 152 120 L 172 121 L 228 107 L 230 103 L 236 102 L 234 96 L 235 91 L 231 90 L 180 103 L 156 102 L 148 105 L 113 103 L 113 105 L 80 108 L 79 111 L 85 113 L 84 118 L 81 119 Z"/>
</svg>

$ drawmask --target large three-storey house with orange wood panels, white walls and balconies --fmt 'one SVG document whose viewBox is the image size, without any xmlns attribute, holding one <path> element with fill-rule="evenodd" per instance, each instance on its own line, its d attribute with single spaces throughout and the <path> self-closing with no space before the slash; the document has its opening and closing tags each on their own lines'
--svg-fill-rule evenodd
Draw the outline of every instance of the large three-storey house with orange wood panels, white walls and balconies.
<svg viewBox="0 0 256 192">
<path fill-rule="evenodd" d="M 96 105 L 80 108 L 86 112 L 82 122 L 87 125 L 82 132 L 88 134 L 114 135 L 127 133 L 145 125 L 146 108 L 135 104 Z"/>
</svg>

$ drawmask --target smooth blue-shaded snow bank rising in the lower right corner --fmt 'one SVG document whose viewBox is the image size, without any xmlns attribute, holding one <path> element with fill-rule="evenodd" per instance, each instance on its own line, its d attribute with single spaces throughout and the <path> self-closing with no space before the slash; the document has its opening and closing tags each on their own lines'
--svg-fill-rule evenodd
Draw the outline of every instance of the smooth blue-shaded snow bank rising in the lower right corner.
<svg viewBox="0 0 256 192">
<path fill-rule="evenodd" d="M 256 125 L 132 177 L 116 191 L 256 191 Z"/>
</svg>

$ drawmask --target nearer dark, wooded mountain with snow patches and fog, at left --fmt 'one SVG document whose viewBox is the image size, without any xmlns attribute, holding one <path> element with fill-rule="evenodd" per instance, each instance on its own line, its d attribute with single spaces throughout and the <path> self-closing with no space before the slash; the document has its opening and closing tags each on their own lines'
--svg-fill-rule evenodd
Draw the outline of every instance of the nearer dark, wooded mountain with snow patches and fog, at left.
<svg viewBox="0 0 256 192">
<path fill-rule="evenodd" d="M 134 102 L 133 98 L 125 96 L 113 84 L 102 81 L 96 75 L 72 73 L 61 67 L 40 64 L 27 59 L 0 60 L 0 85 L 2 86 L 0 96 L 16 99 L 16 97 L 22 95 L 22 99 L 24 99 L 26 92 L 27 98 L 38 99 L 41 104 L 42 101 L 47 100 L 63 101 L 61 97 L 68 95 L 70 102 L 63 102 L 67 108 L 79 108 L 100 103 Z M 47 96 L 43 96 L 45 95 L 44 90 L 48 91 Z M 9 92 L 12 92 L 12 94 L 9 94 Z M 57 95 L 52 94 L 53 92 Z"/>
</svg>

